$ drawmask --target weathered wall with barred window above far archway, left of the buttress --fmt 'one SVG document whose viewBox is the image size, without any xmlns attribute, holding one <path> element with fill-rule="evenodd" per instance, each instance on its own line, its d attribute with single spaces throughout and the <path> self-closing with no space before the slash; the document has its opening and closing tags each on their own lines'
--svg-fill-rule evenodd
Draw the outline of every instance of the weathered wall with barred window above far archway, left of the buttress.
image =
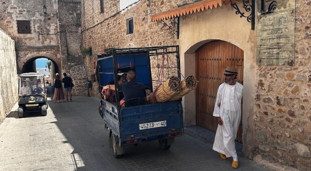
<svg viewBox="0 0 311 171">
<path fill-rule="evenodd" d="M 31 33 L 19 34 L 17 20 L 30 21 Z M 4 0 L 0 6 L 0 28 L 16 42 L 18 73 L 32 71 L 32 63 L 37 58 L 49 58 L 60 67 L 56 0 Z"/>
</svg>

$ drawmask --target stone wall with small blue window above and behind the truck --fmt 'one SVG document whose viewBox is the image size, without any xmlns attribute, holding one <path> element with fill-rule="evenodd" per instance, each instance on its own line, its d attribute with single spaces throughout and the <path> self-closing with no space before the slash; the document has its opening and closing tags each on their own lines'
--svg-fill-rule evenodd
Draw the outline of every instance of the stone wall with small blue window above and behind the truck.
<svg viewBox="0 0 311 171">
<path fill-rule="evenodd" d="M 105 1 L 105 13 L 100 13 L 99 1 L 83 1 L 83 45 L 92 47 L 93 50 L 92 56 L 86 59 L 88 77 L 95 73 L 93 62 L 96 62 L 96 54 L 99 54 L 103 47 L 136 48 L 178 45 L 177 36 L 163 24 L 152 22 L 151 15 L 193 2 L 144 0 L 119 12 L 119 1 Z M 126 19 L 131 17 L 134 23 L 134 33 L 126 34 Z M 151 61 L 151 66 L 156 67 L 158 64 Z M 157 75 L 153 77 L 157 79 Z M 157 83 L 153 82 L 153 85 Z M 97 86 L 97 83 L 93 83 L 90 94 L 100 97 Z"/>
</svg>

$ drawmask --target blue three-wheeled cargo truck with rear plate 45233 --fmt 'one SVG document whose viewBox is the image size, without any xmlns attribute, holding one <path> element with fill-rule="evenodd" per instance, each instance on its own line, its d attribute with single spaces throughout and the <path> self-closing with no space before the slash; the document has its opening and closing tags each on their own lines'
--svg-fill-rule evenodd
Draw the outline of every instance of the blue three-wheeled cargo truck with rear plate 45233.
<svg viewBox="0 0 311 171">
<path fill-rule="evenodd" d="M 126 81 L 126 73 L 136 72 L 137 82 L 145 85 L 152 92 L 152 81 L 157 85 L 162 63 L 162 54 L 173 56 L 176 67 L 169 66 L 166 58 L 166 77 L 172 76 L 172 70 L 180 70 L 179 46 L 111 49 L 97 55 L 97 82 L 99 93 L 108 84 L 118 87 L 118 76 Z M 159 57 L 159 58 L 158 58 Z M 150 59 L 158 65 L 150 66 Z M 151 75 L 151 71 L 152 74 Z M 171 75 L 170 75 L 171 73 Z M 180 78 L 179 72 L 174 72 Z M 152 80 L 152 78 L 154 80 Z M 177 136 L 184 136 L 183 107 L 181 99 L 173 102 L 147 104 L 147 101 L 130 99 L 132 103 L 120 104 L 122 92 L 115 90 L 115 102 L 109 102 L 102 96 L 99 113 L 103 118 L 105 128 L 109 133 L 109 146 L 113 155 L 120 157 L 125 152 L 125 146 L 142 142 L 158 140 L 162 149 L 169 149 Z"/>
</svg>

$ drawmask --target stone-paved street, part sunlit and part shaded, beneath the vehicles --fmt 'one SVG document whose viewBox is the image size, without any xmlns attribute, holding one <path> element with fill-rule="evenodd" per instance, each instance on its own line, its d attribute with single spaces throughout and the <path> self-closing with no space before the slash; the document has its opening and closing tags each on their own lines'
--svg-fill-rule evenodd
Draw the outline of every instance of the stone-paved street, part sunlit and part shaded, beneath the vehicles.
<svg viewBox="0 0 311 171">
<path fill-rule="evenodd" d="M 211 143 L 187 135 L 169 150 L 158 142 L 127 146 L 116 159 L 98 105 L 94 97 L 74 96 L 72 102 L 50 100 L 44 117 L 18 119 L 11 112 L 0 125 L 0 170 L 234 170 L 232 158 L 221 159 Z M 238 170 L 266 170 L 243 158 L 239 164 Z"/>
</svg>

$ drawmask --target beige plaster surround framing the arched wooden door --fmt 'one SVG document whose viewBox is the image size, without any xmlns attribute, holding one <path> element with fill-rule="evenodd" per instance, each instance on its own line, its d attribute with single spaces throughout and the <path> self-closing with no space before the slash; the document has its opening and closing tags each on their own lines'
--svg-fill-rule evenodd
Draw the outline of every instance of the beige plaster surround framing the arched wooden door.
<svg viewBox="0 0 311 171">
<path fill-rule="evenodd" d="M 254 99 L 251 97 L 256 88 L 256 31 L 251 30 L 251 24 L 245 18 L 235 15 L 231 6 L 182 17 L 179 41 L 183 74 L 196 75 L 196 49 L 213 40 L 230 42 L 244 51 L 243 142 L 246 149 L 248 117 L 254 110 Z M 195 125 L 195 90 L 184 97 L 183 103 L 185 126 Z"/>
</svg>

